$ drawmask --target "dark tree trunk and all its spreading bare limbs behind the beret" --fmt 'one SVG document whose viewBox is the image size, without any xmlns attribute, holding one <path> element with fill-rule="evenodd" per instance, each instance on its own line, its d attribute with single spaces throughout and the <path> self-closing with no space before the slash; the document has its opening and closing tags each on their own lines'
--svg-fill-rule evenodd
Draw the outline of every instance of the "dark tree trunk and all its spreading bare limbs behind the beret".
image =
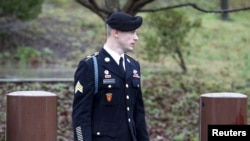
<svg viewBox="0 0 250 141">
<path fill-rule="evenodd" d="M 156 0 L 127 0 L 123 8 L 120 8 L 119 0 L 105 0 L 105 6 L 101 7 L 98 5 L 97 0 L 76 0 L 82 6 L 88 8 L 93 13 L 98 15 L 103 21 L 107 19 L 113 12 L 115 11 L 123 11 L 131 15 L 136 15 L 138 12 L 157 12 L 163 10 L 169 10 L 174 8 L 180 8 L 184 6 L 191 6 L 194 9 L 206 12 L 206 13 L 229 13 L 229 12 L 237 12 L 242 10 L 250 10 L 250 7 L 240 8 L 240 9 L 230 9 L 230 10 L 206 10 L 197 6 L 195 3 L 184 3 L 177 4 L 162 8 L 156 9 L 143 9 L 143 7 L 151 2 Z"/>
</svg>

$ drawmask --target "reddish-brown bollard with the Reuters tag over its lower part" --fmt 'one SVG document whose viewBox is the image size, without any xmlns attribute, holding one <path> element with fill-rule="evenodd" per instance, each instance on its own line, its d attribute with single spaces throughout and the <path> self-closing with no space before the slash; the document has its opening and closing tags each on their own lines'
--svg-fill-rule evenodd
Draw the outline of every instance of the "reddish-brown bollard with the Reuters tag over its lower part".
<svg viewBox="0 0 250 141">
<path fill-rule="evenodd" d="M 208 125 L 246 125 L 247 96 L 207 93 L 200 96 L 200 141 L 208 141 Z"/>
</svg>

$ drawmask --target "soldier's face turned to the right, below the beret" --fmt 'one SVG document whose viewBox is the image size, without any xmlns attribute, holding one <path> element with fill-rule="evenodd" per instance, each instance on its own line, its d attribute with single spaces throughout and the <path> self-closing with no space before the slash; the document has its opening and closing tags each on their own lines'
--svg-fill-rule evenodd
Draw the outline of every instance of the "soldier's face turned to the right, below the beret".
<svg viewBox="0 0 250 141">
<path fill-rule="evenodd" d="M 119 40 L 118 43 L 121 47 L 121 49 L 126 52 L 126 51 L 132 51 L 134 49 L 135 43 L 138 41 L 138 36 L 136 33 L 136 30 L 134 31 L 126 31 L 122 32 L 119 31 Z"/>
</svg>

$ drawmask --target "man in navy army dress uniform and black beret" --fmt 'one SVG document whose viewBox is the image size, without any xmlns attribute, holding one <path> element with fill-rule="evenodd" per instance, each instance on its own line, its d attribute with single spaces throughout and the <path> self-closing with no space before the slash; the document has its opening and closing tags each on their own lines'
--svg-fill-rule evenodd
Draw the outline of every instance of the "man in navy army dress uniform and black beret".
<svg viewBox="0 0 250 141">
<path fill-rule="evenodd" d="M 74 76 L 75 141 L 149 141 L 140 64 L 126 54 L 138 41 L 142 17 L 113 13 L 99 53 L 80 61 Z M 95 83 L 97 59 L 98 83 Z M 95 88 L 97 93 L 95 93 Z"/>
</svg>

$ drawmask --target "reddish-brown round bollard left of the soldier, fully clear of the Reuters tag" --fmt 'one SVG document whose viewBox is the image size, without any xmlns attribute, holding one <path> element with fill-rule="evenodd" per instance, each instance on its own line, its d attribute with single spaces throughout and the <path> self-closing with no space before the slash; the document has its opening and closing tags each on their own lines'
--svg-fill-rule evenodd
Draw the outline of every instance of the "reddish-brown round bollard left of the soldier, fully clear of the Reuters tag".
<svg viewBox="0 0 250 141">
<path fill-rule="evenodd" d="M 7 94 L 6 141 L 56 141 L 57 96 L 46 91 Z"/>
</svg>

